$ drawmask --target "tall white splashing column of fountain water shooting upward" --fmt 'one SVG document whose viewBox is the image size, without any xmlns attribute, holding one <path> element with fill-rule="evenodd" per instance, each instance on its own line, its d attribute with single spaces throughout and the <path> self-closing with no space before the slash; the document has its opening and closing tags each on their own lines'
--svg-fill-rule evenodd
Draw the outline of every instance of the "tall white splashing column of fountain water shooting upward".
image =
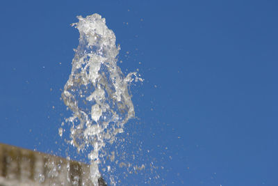
<svg viewBox="0 0 278 186">
<path fill-rule="evenodd" d="M 99 150 L 124 131 L 124 124 L 134 116 L 129 84 L 142 81 L 131 72 L 124 77 L 117 66 L 120 47 L 115 34 L 108 29 L 101 15 L 78 16 L 79 46 L 72 60 L 72 72 L 65 84 L 62 98 L 73 112 L 70 123 L 70 144 L 78 151 L 92 149 L 88 155 L 94 185 L 100 177 Z M 63 130 L 59 130 L 60 136 Z"/>
</svg>

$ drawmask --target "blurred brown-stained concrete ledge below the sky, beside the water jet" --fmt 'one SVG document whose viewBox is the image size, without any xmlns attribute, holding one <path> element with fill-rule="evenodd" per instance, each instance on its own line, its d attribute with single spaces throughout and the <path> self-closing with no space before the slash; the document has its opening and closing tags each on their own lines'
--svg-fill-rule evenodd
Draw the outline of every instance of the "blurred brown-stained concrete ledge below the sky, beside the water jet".
<svg viewBox="0 0 278 186">
<path fill-rule="evenodd" d="M 90 166 L 0 144 L 0 186 L 20 185 L 92 185 Z M 99 185 L 106 185 L 102 178 Z"/>
</svg>

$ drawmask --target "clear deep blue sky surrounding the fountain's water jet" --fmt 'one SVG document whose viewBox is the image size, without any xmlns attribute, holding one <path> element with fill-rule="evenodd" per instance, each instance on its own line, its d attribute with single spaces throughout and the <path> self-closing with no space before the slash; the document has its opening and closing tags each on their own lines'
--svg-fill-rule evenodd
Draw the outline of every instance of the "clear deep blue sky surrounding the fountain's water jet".
<svg viewBox="0 0 278 186">
<path fill-rule="evenodd" d="M 133 163 L 148 166 L 122 185 L 145 185 L 156 176 L 151 162 L 161 176 L 151 185 L 278 185 L 277 9 L 277 1 L 1 1 L 0 142 L 65 156 L 60 88 L 79 42 L 70 24 L 99 13 L 122 47 L 122 71 L 138 68 L 145 79 L 131 86 L 138 119 L 123 137 Z"/>
</svg>

